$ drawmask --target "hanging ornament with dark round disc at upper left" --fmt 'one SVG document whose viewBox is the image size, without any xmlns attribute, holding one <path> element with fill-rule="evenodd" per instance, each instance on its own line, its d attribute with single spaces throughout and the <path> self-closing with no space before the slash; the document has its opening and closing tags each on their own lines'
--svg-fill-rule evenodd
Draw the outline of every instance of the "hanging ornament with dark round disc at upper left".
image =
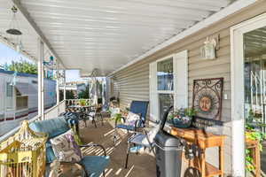
<svg viewBox="0 0 266 177">
<path fill-rule="evenodd" d="M 8 35 L 15 36 L 16 42 L 14 44 L 16 45 L 16 50 L 20 52 L 20 50 L 22 50 L 22 42 L 20 39 L 20 35 L 22 35 L 22 32 L 20 31 L 19 22 L 16 17 L 16 13 L 18 12 L 18 9 L 15 6 L 12 6 L 12 12 L 13 12 L 13 16 L 12 16 L 9 29 L 7 29 L 5 32 Z"/>
</svg>

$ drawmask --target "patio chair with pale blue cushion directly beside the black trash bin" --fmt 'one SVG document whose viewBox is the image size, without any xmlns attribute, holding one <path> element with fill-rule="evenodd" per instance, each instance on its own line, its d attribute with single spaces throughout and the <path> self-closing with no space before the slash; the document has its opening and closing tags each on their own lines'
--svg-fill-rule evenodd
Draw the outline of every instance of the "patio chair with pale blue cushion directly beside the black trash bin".
<svg viewBox="0 0 266 177">
<path fill-rule="evenodd" d="M 142 130 L 142 133 L 137 133 L 135 135 L 132 135 L 129 137 L 128 140 L 128 150 L 127 150 L 127 157 L 126 157 L 126 163 L 125 168 L 128 168 L 128 162 L 129 162 L 129 153 L 138 153 L 138 150 L 140 149 L 149 149 L 150 152 L 153 152 L 153 155 L 155 156 L 155 150 L 154 147 L 154 137 L 158 133 L 160 127 L 157 125 L 156 127 L 153 127 L 149 132 L 147 132 L 145 129 Z"/>
</svg>

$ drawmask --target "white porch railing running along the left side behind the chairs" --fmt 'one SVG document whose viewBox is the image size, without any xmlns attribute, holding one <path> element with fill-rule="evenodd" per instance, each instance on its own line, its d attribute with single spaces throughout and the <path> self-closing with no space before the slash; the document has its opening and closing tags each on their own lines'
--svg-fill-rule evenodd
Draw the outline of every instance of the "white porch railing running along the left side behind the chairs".
<svg viewBox="0 0 266 177">
<path fill-rule="evenodd" d="M 52 119 L 52 118 L 57 118 L 59 117 L 59 114 L 62 112 L 66 111 L 66 101 L 63 100 L 59 104 L 54 105 L 51 107 L 49 110 L 46 110 L 44 112 L 43 119 Z M 35 116 L 33 119 L 29 119 L 29 122 L 34 122 L 37 120 L 42 120 L 42 117 L 40 116 Z M 0 142 L 3 142 L 7 138 L 9 138 L 12 135 L 15 135 L 19 130 L 21 126 L 15 127 L 12 129 L 12 131 L 8 132 L 7 134 L 3 135 L 0 137 Z"/>
</svg>

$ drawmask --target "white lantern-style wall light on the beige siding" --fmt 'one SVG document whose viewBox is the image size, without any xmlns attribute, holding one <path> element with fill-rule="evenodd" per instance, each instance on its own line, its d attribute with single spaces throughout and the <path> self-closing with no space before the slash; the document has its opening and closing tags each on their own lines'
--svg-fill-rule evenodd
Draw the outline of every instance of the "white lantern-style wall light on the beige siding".
<svg viewBox="0 0 266 177">
<path fill-rule="evenodd" d="M 205 59 L 215 59 L 216 50 L 219 50 L 219 35 L 213 38 L 207 37 L 204 45 L 200 49 L 201 57 Z"/>
</svg>

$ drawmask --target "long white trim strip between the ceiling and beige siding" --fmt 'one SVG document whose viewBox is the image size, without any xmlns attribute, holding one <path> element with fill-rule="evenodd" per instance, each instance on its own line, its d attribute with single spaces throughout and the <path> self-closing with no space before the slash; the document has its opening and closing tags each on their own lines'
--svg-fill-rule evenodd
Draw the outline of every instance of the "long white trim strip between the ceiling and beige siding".
<svg viewBox="0 0 266 177">
<path fill-rule="evenodd" d="M 175 42 L 178 42 L 178 41 L 184 39 L 184 37 L 187 37 L 188 35 L 192 35 L 198 31 L 200 31 L 200 29 L 208 27 L 208 26 L 214 24 L 215 22 L 217 22 L 217 21 L 219 21 L 219 20 L 221 20 L 227 16 L 229 16 L 235 12 L 238 12 L 239 10 L 241 10 L 241 9 L 251 5 L 251 4 L 254 4 L 256 1 L 257 0 L 239 0 L 233 4 L 230 4 L 229 6 L 223 8 L 223 10 L 221 10 L 220 12 L 216 12 L 215 14 L 211 15 L 207 19 L 200 21 L 199 23 L 197 23 L 193 27 L 187 28 L 186 30 L 184 30 L 180 34 L 175 35 L 174 37 L 168 39 L 167 41 L 160 43 L 158 46 L 154 47 L 152 50 L 148 50 L 143 55 L 139 56 L 138 58 L 133 59 L 128 64 L 123 65 L 120 68 L 118 68 L 117 70 L 108 74 L 108 76 L 113 75 L 113 73 L 117 73 L 117 72 L 121 71 L 122 69 L 128 67 L 129 65 L 133 65 L 133 64 L 137 63 L 138 61 L 153 55 L 153 53 L 166 48 L 168 45 L 171 45 Z"/>
</svg>

